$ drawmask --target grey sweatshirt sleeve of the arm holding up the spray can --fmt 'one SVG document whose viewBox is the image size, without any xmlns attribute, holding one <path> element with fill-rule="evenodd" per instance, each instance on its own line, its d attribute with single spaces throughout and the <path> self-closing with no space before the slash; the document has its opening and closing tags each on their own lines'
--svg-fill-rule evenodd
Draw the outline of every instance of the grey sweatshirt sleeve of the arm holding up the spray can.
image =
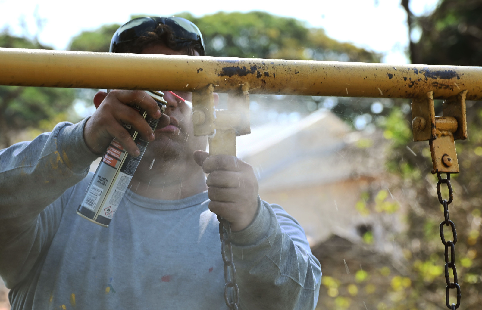
<svg viewBox="0 0 482 310">
<path fill-rule="evenodd" d="M 22 281 L 50 244 L 68 189 L 97 157 L 83 139 L 86 121 L 59 123 L 0 150 L 0 275 L 7 287 Z"/>
</svg>

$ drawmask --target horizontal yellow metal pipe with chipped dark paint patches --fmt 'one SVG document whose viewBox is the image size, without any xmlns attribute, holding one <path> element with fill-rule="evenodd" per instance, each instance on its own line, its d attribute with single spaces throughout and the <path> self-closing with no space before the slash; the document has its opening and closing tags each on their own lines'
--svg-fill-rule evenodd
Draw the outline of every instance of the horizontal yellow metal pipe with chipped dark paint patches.
<svg viewBox="0 0 482 310">
<path fill-rule="evenodd" d="M 0 48 L 0 85 L 482 99 L 482 67 L 69 52 Z"/>
</svg>

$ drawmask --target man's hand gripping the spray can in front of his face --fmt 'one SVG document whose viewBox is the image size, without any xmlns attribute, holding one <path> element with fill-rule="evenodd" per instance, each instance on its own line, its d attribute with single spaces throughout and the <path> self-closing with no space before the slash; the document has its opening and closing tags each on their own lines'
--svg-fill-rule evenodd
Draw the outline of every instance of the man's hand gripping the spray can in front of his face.
<svg viewBox="0 0 482 310">
<path fill-rule="evenodd" d="M 161 118 L 158 128 L 169 125 L 169 116 L 162 115 L 157 102 L 143 90 L 111 90 L 109 93 L 99 91 L 94 96 L 97 110 L 87 120 L 84 127 L 84 141 L 87 147 L 98 155 L 103 155 L 112 139 L 116 138 L 127 153 L 140 154 L 137 145 L 123 124 L 130 124 L 143 139 L 153 141 L 154 131 L 140 114 L 131 108 L 137 104 L 147 111 L 147 115 Z"/>
</svg>

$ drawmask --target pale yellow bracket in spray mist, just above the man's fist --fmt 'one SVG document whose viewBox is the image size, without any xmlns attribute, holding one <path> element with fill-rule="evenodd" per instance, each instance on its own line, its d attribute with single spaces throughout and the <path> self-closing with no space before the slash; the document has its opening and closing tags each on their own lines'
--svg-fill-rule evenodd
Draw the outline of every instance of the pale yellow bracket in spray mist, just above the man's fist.
<svg viewBox="0 0 482 310">
<path fill-rule="evenodd" d="M 236 136 L 251 132 L 249 121 L 249 84 L 228 94 L 228 110 L 214 110 L 214 87 L 193 92 L 192 122 L 194 135 L 209 135 L 209 155 L 236 156 Z"/>
</svg>

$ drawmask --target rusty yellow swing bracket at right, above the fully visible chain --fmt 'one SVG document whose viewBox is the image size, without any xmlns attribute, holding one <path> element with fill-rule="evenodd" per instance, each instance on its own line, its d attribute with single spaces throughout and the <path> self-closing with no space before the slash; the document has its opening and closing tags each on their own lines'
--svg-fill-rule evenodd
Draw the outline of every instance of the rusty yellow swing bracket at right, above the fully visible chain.
<svg viewBox="0 0 482 310">
<path fill-rule="evenodd" d="M 433 91 L 412 99 L 414 141 L 430 145 L 432 173 L 458 173 L 455 140 L 467 139 L 467 90 L 447 98 L 442 105 L 443 116 L 435 116 Z"/>
</svg>

